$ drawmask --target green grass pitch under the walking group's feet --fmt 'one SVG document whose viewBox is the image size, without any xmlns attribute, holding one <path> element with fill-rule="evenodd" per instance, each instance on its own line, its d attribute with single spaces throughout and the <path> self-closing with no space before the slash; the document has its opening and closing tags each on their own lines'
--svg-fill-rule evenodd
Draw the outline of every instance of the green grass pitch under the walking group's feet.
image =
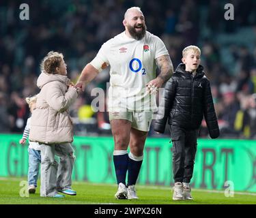
<svg viewBox="0 0 256 218">
<path fill-rule="evenodd" d="M 62 199 L 40 197 L 40 188 L 29 197 L 20 197 L 20 181 L 26 178 L 0 178 L 0 204 L 256 204 L 256 193 L 235 192 L 225 197 L 224 191 L 193 189 L 193 201 L 173 201 L 171 187 L 137 185 L 139 200 L 116 200 L 115 184 L 73 182 L 76 196 Z"/>
</svg>

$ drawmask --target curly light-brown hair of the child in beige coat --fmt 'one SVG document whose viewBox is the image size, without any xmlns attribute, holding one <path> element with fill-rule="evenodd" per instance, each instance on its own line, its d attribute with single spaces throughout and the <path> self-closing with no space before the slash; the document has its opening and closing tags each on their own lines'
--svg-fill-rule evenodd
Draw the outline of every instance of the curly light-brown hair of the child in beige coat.
<svg viewBox="0 0 256 218">
<path fill-rule="evenodd" d="M 41 71 L 46 72 L 47 74 L 55 74 L 56 67 L 59 67 L 62 60 L 62 53 L 51 50 L 51 52 L 48 52 L 40 64 Z"/>
</svg>

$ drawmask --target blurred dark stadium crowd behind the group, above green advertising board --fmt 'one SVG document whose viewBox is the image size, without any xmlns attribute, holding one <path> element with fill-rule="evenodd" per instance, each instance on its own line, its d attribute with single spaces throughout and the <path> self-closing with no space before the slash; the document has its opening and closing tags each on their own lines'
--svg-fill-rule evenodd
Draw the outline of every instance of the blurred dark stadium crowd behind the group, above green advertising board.
<svg viewBox="0 0 256 218">
<path fill-rule="evenodd" d="M 29 5 L 29 20 L 19 18 L 21 3 Z M 234 6 L 234 20 L 225 20 L 225 3 L 1 0 L 0 132 L 23 131 L 29 116 L 25 97 L 39 92 L 36 80 L 40 61 L 48 51 L 63 53 L 68 74 L 76 82 L 100 46 L 124 31 L 124 12 L 136 5 L 145 15 L 147 30 L 165 42 L 174 68 L 181 62 L 185 46 L 201 48 L 201 63 L 212 85 L 221 137 L 256 139 L 256 2 L 229 1 Z M 107 82 L 109 69 L 101 72 L 72 106 L 76 135 L 111 134 L 107 112 L 91 108 L 96 97 L 91 91 L 95 87 L 106 90 Z M 156 135 L 150 131 L 150 136 Z M 200 136 L 208 137 L 205 122 Z"/>
</svg>

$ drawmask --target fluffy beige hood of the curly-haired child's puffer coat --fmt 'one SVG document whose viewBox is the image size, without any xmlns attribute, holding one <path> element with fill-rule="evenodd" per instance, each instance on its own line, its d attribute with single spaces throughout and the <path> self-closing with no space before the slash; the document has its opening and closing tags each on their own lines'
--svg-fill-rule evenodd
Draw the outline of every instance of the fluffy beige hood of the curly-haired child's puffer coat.
<svg viewBox="0 0 256 218">
<path fill-rule="evenodd" d="M 37 86 L 39 89 L 42 89 L 42 87 L 45 84 L 47 84 L 48 82 L 53 82 L 53 81 L 63 82 L 64 84 L 68 85 L 68 83 L 70 82 L 70 79 L 68 78 L 68 76 L 63 76 L 60 74 L 46 74 L 46 73 L 42 72 L 40 74 L 40 76 L 38 77 Z"/>
</svg>

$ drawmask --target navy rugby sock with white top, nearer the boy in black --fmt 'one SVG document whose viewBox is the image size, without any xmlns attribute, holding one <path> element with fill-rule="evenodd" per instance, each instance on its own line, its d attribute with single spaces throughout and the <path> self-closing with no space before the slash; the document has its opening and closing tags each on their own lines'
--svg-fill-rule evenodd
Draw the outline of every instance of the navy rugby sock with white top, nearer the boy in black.
<svg viewBox="0 0 256 218">
<path fill-rule="evenodd" d="M 141 170 L 141 164 L 143 161 L 143 155 L 137 157 L 132 153 L 129 153 L 129 161 L 128 161 L 128 184 L 135 185 L 137 178 L 139 176 L 139 170 Z"/>
</svg>

